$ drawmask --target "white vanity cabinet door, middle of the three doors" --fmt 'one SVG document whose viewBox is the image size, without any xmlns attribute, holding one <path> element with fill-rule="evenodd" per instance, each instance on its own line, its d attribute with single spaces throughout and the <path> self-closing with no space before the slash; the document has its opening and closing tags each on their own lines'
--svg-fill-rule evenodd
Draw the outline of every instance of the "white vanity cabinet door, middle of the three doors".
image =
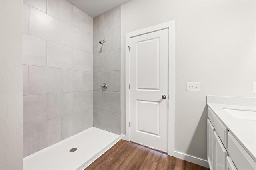
<svg viewBox="0 0 256 170">
<path fill-rule="evenodd" d="M 214 148 L 214 170 L 226 170 L 226 157 L 228 156 L 228 153 L 226 149 L 224 148 L 218 134 L 214 131 L 214 142 L 213 142 L 213 148 Z"/>
</svg>

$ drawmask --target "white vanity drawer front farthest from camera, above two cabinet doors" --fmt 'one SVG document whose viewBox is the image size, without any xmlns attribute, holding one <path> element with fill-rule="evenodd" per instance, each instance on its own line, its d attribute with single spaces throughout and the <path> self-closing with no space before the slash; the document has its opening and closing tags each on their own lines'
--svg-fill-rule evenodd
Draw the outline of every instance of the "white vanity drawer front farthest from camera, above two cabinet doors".
<svg viewBox="0 0 256 170">
<path fill-rule="evenodd" d="M 218 134 L 220 140 L 222 141 L 225 147 L 228 146 L 228 129 L 223 125 L 223 123 L 218 119 L 218 117 L 213 113 L 213 111 L 208 107 L 208 117 L 215 128 L 216 133 Z"/>
</svg>

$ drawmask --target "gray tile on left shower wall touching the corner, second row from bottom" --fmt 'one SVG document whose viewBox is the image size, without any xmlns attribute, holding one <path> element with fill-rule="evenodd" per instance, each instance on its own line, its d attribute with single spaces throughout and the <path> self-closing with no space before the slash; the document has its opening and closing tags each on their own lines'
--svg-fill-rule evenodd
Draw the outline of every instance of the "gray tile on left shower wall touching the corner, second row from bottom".
<svg viewBox="0 0 256 170">
<path fill-rule="evenodd" d="M 92 107 L 92 91 L 73 93 L 73 113 L 85 112 Z"/>
</svg>

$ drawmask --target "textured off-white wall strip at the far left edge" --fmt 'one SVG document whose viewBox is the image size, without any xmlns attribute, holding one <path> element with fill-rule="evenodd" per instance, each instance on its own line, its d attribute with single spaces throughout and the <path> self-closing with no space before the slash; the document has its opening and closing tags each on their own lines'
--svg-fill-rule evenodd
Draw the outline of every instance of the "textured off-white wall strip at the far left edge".
<svg viewBox="0 0 256 170">
<path fill-rule="evenodd" d="M 0 169 L 22 169 L 22 0 L 0 0 Z"/>
</svg>

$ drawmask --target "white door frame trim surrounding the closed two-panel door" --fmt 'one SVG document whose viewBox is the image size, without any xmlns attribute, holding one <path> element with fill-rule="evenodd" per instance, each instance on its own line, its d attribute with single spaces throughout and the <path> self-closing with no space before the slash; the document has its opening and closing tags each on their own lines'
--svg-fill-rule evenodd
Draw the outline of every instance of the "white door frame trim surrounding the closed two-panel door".
<svg viewBox="0 0 256 170">
<path fill-rule="evenodd" d="M 130 141 L 130 38 L 168 29 L 168 155 L 174 156 L 175 148 L 175 20 L 143 28 L 125 34 L 125 135 L 122 139 Z M 132 49 L 131 49 L 132 50 Z"/>
</svg>

